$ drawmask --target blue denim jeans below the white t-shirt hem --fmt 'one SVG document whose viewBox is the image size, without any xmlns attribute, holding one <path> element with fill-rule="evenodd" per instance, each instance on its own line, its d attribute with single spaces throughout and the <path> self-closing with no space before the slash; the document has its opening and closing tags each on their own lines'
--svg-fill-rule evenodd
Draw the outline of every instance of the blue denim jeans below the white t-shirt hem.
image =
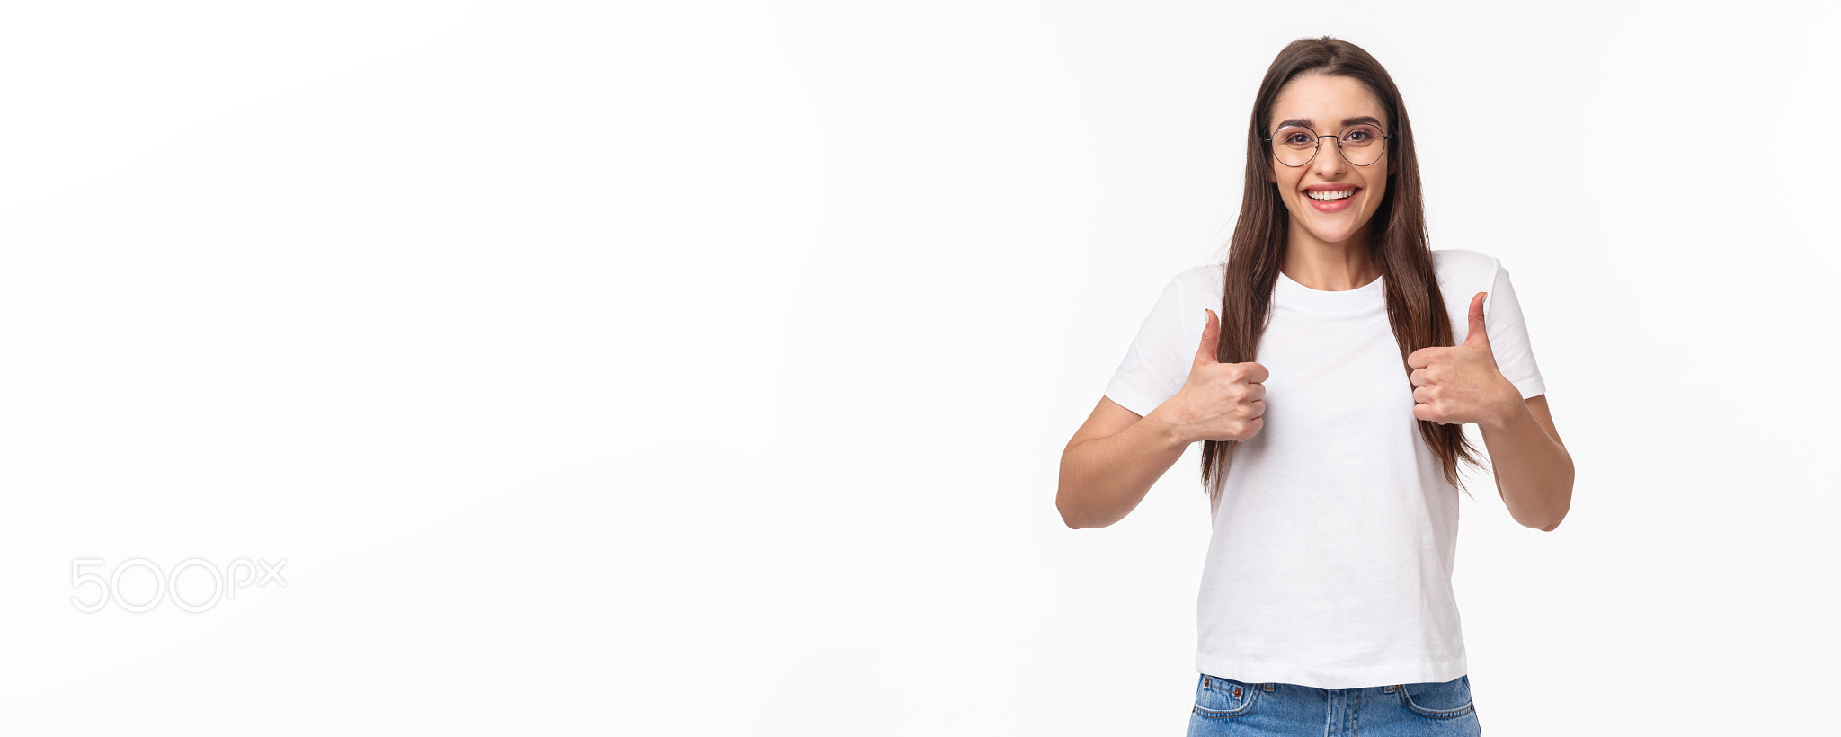
<svg viewBox="0 0 1841 737">
<path fill-rule="evenodd" d="M 1471 676 L 1443 684 L 1316 689 L 1198 674 L 1189 737 L 1204 735 L 1482 735 Z"/>
</svg>

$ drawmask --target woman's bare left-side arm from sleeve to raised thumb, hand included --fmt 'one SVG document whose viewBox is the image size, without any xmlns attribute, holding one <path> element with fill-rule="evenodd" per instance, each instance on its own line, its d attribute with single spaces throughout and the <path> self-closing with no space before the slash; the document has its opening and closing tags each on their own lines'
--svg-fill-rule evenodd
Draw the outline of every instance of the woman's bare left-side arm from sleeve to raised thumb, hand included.
<svg viewBox="0 0 1841 737">
<path fill-rule="evenodd" d="M 1125 520 L 1195 440 L 1246 440 L 1259 433 L 1265 426 L 1263 381 L 1270 374 L 1252 361 L 1215 361 L 1219 341 L 1221 319 L 1210 310 L 1187 381 L 1151 415 L 1140 418 L 1099 398 L 1094 415 L 1060 453 L 1055 509 L 1068 527 L 1106 527 Z"/>
</svg>

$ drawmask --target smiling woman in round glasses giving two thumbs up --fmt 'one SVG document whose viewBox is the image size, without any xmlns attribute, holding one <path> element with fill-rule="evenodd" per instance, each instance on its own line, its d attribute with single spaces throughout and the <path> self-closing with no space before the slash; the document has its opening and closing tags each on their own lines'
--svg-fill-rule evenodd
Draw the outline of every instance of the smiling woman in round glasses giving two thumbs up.
<svg viewBox="0 0 1841 737">
<path fill-rule="evenodd" d="M 1202 442 L 1191 735 L 1480 733 L 1451 590 L 1464 424 L 1515 521 L 1552 531 L 1572 499 L 1508 271 L 1429 249 L 1407 107 L 1349 42 L 1279 52 L 1246 153 L 1228 260 L 1164 287 L 1055 503 L 1106 527 Z"/>
</svg>

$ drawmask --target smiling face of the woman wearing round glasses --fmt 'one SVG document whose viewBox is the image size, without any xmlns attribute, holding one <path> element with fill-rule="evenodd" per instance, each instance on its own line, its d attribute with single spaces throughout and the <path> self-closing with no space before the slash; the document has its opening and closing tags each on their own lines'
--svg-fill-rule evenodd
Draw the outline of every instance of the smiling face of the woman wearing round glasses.
<svg viewBox="0 0 1841 737">
<path fill-rule="evenodd" d="M 1303 122 L 1320 136 L 1337 136 L 1348 127 L 1344 122 L 1351 118 L 1379 120 L 1381 133 L 1394 133 L 1386 111 L 1368 92 L 1368 87 L 1349 77 L 1305 74 L 1279 90 L 1265 133 L 1270 136 L 1287 122 L 1294 125 Z M 1364 234 L 1370 217 L 1381 208 L 1381 195 L 1386 193 L 1392 151 L 1383 149 L 1381 158 L 1373 164 L 1355 166 L 1337 151 L 1335 138 L 1318 138 L 1318 142 L 1316 157 L 1303 166 L 1285 166 L 1272 157 L 1270 149 L 1267 151 L 1267 168 L 1278 186 L 1278 199 L 1291 210 L 1292 243 L 1300 238 L 1344 243 L 1355 234 Z M 1373 146 L 1392 144 L 1392 140 L 1383 140 Z M 1278 146 L 1276 140 L 1274 146 Z M 1327 203 L 1313 201 L 1309 195 L 1311 190 L 1349 188 L 1355 190 L 1353 195 Z"/>
</svg>

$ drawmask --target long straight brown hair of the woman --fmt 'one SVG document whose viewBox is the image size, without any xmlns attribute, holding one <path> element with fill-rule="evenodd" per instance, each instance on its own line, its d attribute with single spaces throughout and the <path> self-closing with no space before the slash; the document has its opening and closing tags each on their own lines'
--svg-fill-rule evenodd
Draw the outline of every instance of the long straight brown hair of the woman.
<svg viewBox="0 0 1841 737">
<path fill-rule="evenodd" d="M 1388 118 L 1388 157 L 1394 177 L 1381 208 L 1375 210 L 1370 228 L 1370 256 L 1381 269 L 1386 287 L 1386 317 L 1394 326 L 1394 341 L 1399 343 L 1401 385 L 1412 391 L 1412 368 L 1407 356 L 1425 346 L 1453 345 L 1451 313 L 1438 291 L 1436 269 L 1432 265 L 1430 238 L 1425 230 L 1425 206 L 1419 199 L 1419 158 L 1412 147 L 1412 125 L 1407 122 L 1407 103 L 1399 98 L 1399 88 L 1375 57 L 1348 41 L 1320 37 L 1298 39 L 1278 52 L 1272 66 L 1267 68 L 1254 98 L 1254 114 L 1246 123 L 1246 188 L 1241 199 L 1241 219 L 1233 227 L 1233 240 L 1228 247 L 1228 262 L 1222 263 L 1221 295 L 1221 348 L 1215 356 L 1221 363 L 1254 361 L 1259 335 L 1265 333 L 1272 317 L 1272 286 L 1278 282 L 1279 265 L 1285 263 L 1287 232 L 1291 212 L 1279 201 L 1276 188 L 1268 181 L 1267 168 L 1272 153 L 1265 138 L 1270 136 L 1272 105 L 1287 83 L 1303 76 L 1331 74 L 1360 81 L 1375 96 Z M 1419 437 L 1438 455 L 1445 468 L 1445 481 L 1464 488 L 1458 477 L 1458 461 L 1482 466 L 1476 461 L 1476 446 L 1464 437 L 1462 424 L 1438 424 L 1418 420 Z M 1228 475 L 1233 440 L 1202 442 L 1202 486 L 1213 507 L 1221 505 L 1221 492 Z M 1469 494 L 1469 490 L 1465 490 Z"/>
</svg>

